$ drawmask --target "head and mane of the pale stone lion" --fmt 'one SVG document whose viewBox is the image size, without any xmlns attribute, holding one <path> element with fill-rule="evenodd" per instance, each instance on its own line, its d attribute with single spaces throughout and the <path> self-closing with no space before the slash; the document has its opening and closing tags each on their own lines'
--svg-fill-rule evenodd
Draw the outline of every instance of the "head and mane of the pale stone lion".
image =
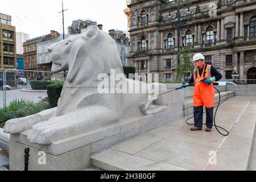
<svg viewBox="0 0 256 182">
<path fill-rule="evenodd" d="M 100 73 L 123 73 L 122 61 L 115 40 L 97 26 L 89 26 L 80 35 L 70 36 L 48 47 L 52 72 L 68 71 L 71 85 L 97 84 Z M 84 84 L 85 82 L 90 82 Z"/>
</svg>

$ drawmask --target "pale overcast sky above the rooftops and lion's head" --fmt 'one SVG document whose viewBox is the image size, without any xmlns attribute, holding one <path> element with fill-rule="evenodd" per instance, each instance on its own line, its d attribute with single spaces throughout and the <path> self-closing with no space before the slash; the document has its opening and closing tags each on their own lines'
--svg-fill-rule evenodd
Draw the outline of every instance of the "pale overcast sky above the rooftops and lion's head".
<svg viewBox="0 0 256 182">
<path fill-rule="evenodd" d="M 11 15 L 11 25 L 16 32 L 24 32 L 31 38 L 55 30 L 63 34 L 61 0 L 8 0 L 0 6 L 0 13 Z M 0 0 L 0 5 L 6 2 Z M 103 25 L 103 30 L 127 30 L 127 18 L 123 13 L 126 0 L 63 0 L 65 34 L 72 20 L 90 18 Z"/>
</svg>

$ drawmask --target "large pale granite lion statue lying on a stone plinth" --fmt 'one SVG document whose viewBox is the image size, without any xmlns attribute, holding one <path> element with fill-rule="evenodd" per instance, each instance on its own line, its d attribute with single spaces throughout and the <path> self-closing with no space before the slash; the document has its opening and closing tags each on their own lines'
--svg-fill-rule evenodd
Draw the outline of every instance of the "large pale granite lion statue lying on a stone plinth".
<svg viewBox="0 0 256 182">
<path fill-rule="evenodd" d="M 83 34 L 52 44 L 48 51 L 52 72 L 68 71 L 58 106 L 7 121 L 3 129 L 5 133 L 18 134 L 28 130 L 31 143 L 51 144 L 122 122 L 123 119 L 167 109 L 163 96 L 148 100 L 147 93 L 98 93 L 97 86 L 102 81 L 98 75 L 110 75 L 110 69 L 123 73 L 123 68 L 117 44 L 97 26 L 89 26 Z M 134 87 L 141 84 L 126 78 L 122 83 L 133 84 Z M 166 92 L 166 86 L 159 85 L 159 92 Z"/>
</svg>

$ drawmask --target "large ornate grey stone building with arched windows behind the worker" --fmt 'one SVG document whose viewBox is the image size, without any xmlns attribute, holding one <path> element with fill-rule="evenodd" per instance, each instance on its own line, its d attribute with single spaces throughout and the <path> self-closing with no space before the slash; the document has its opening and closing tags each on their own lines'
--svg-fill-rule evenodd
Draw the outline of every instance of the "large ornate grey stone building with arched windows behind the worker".
<svg viewBox="0 0 256 182">
<path fill-rule="evenodd" d="M 129 63 L 139 74 L 159 73 L 159 81 L 174 80 L 179 41 L 180 49 L 203 53 L 223 79 L 232 79 L 235 72 L 237 81 L 256 79 L 255 0 L 180 0 L 179 40 L 177 1 L 132 0 L 129 7 Z"/>
</svg>

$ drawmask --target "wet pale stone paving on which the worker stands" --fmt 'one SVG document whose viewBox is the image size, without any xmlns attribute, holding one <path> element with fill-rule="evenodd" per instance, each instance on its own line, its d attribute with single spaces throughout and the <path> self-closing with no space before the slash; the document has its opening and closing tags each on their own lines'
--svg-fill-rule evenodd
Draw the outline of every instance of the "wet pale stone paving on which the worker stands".
<svg viewBox="0 0 256 182">
<path fill-rule="evenodd" d="M 220 106 L 216 123 L 230 131 L 227 137 L 205 126 L 190 131 L 186 118 L 92 154 L 92 165 L 110 171 L 256 170 L 256 97 L 236 96 Z"/>
</svg>

